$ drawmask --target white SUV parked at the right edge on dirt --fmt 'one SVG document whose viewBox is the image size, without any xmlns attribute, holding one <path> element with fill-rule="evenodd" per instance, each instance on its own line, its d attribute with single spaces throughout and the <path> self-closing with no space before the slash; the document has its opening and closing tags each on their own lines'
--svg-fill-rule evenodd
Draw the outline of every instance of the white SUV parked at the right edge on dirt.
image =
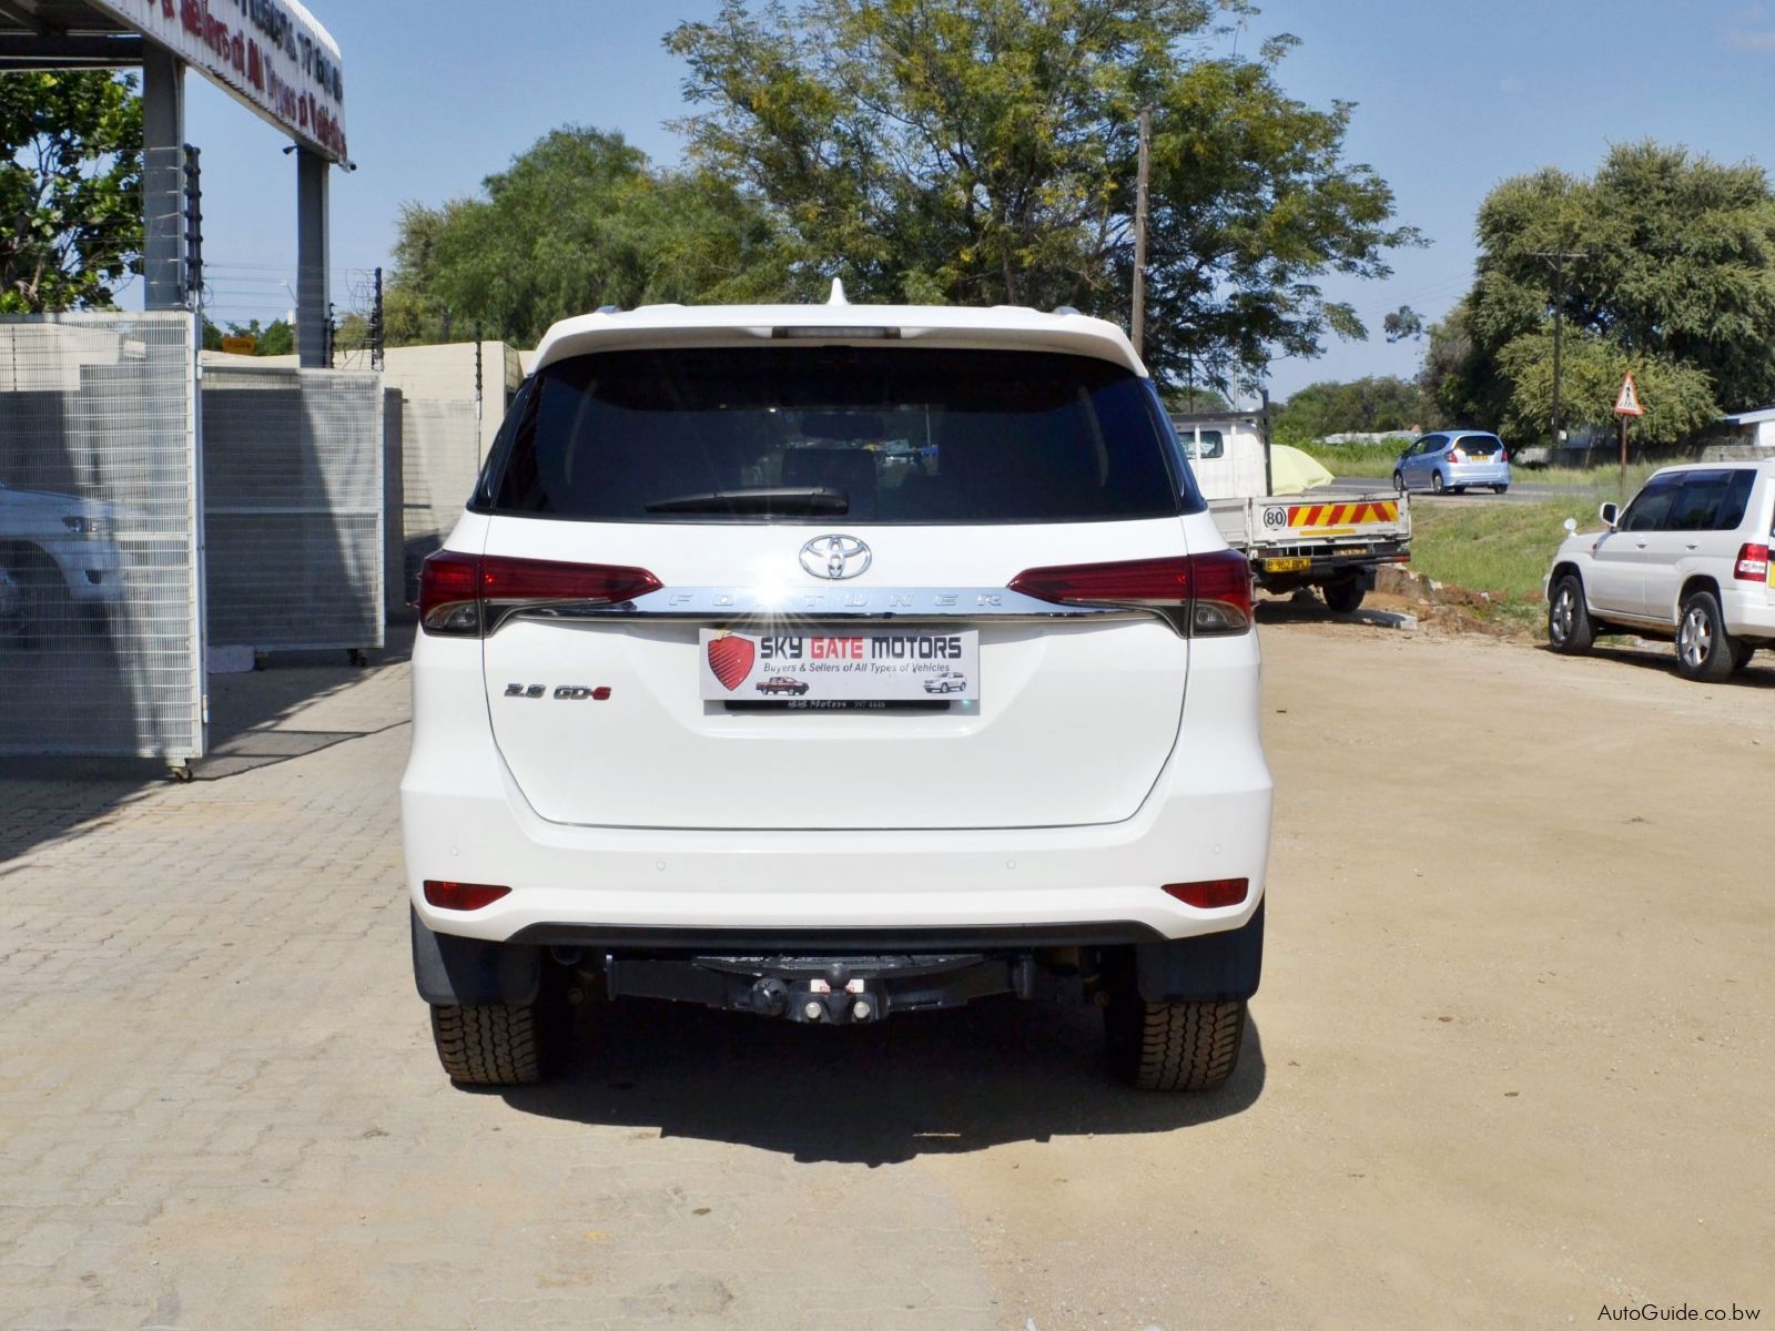
<svg viewBox="0 0 1775 1331">
<path fill-rule="evenodd" d="M 1676 639 L 1690 680 L 1724 680 L 1775 639 L 1770 509 L 1775 461 L 1654 472 L 1605 532 L 1573 534 L 1548 570 L 1548 642 L 1589 651 L 1598 634 Z M 1567 531 L 1576 527 L 1566 524 Z"/>
</svg>

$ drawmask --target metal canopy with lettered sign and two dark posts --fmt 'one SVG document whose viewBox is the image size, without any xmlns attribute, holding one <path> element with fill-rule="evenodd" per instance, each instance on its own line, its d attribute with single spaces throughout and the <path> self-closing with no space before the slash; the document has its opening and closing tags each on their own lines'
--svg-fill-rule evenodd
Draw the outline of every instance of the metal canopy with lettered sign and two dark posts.
<svg viewBox="0 0 1775 1331">
<path fill-rule="evenodd" d="M 350 167 L 339 48 L 300 0 L 252 5 L 149 0 L 0 0 L 0 71 L 142 69 L 146 305 L 185 309 L 185 69 L 197 69 L 295 140 L 296 351 L 327 364 L 328 190 Z"/>
</svg>

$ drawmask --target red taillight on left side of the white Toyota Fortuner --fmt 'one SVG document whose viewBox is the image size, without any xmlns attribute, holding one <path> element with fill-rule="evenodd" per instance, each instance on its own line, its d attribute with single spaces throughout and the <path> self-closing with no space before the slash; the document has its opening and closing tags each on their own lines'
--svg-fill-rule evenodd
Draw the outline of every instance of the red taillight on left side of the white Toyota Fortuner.
<svg viewBox="0 0 1775 1331">
<path fill-rule="evenodd" d="M 419 625 L 428 634 L 474 637 L 541 605 L 621 605 L 659 591 L 660 580 L 625 564 L 566 564 L 438 550 L 419 571 Z"/>
</svg>

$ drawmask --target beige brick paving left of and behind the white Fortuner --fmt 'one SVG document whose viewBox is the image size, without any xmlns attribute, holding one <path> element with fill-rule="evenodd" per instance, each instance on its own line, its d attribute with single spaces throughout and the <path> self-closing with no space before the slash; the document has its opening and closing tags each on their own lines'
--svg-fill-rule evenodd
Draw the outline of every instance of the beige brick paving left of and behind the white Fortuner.
<svg viewBox="0 0 1775 1331">
<path fill-rule="evenodd" d="M 406 687 L 218 680 L 248 728 L 188 786 L 0 781 L 0 1324 L 996 1324 L 958 1221 L 870 1141 L 703 1130 L 756 1033 L 683 1024 L 690 1081 L 637 1028 L 548 1091 L 449 1088 L 406 964 Z"/>
</svg>

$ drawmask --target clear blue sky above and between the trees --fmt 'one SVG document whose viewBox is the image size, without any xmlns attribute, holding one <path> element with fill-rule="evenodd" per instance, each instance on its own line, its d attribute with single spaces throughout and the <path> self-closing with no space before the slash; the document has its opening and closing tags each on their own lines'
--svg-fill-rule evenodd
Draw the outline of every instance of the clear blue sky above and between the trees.
<svg viewBox="0 0 1775 1331">
<path fill-rule="evenodd" d="M 334 176 L 335 270 L 387 263 L 399 208 L 472 192 L 557 124 L 621 130 L 657 161 L 682 144 L 683 69 L 660 48 L 717 0 L 311 0 L 344 53 L 359 170 Z M 1431 245 L 1386 282 L 1328 284 L 1372 328 L 1312 362 L 1282 360 L 1283 398 L 1319 378 L 1411 374 L 1420 348 L 1388 346 L 1381 316 L 1443 314 L 1471 277 L 1473 211 L 1507 176 L 1587 172 L 1613 142 L 1654 137 L 1715 158 L 1775 163 L 1775 7 L 1745 0 L 1267 0 L 1241 50 L 1274 32 L 1298 98 L 1356 101 L 1347 149 L 1393 186 Z M 284 140 L 192 78 L 186 133 L 204 149 L 215 316 L 275 318 L 295 268 L 295 169 Z M 351 303 L 341 272 L 335 300 Z"/>
</svg>

